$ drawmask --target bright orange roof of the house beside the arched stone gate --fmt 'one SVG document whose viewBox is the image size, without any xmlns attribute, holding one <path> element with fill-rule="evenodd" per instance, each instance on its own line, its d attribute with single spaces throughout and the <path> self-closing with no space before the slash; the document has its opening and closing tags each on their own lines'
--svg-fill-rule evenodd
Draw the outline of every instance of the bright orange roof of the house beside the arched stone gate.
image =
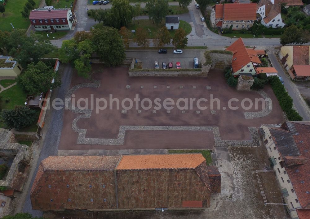
<svg viewBox="0 0 310 219">
<path fill-rule="evenodd" d="M 246 49 L 241 37 L 226 48 L 226 50 L 233 53 L 232 70 L 234 72 L 237 72 L 242 66 L 245 66 L 250 62 L 261 63 L 255 49 Z"/>
</svg>

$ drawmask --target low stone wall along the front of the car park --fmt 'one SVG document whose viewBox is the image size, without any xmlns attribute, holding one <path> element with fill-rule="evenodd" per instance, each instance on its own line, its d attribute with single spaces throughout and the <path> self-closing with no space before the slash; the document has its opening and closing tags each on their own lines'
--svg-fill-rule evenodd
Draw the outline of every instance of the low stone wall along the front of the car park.
<svg viewBox="0 0 310 219">
<path fill-rule="evenodd" d="M 204 72 L 205 71 L 205 72 Z M 207 76 L 209 69 L 204 71 L 129 71 L 130 77 L 180 77 L 180 76 Z M 207 72 L 206 72 L 207 71 Z"/>
</svg>

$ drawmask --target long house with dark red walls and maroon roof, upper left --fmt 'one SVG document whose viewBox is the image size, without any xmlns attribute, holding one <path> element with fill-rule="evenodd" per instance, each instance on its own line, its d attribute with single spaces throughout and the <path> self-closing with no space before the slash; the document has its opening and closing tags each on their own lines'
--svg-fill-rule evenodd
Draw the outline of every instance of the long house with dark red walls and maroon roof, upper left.
<svg viewBox="0 0 310 219">
<path fill-rule="evenodd" d="M 71 30 L 74 19 L 70 8 L 38 8 L 30 11 L 29 15 L 35 31 Z"/>
</svg>

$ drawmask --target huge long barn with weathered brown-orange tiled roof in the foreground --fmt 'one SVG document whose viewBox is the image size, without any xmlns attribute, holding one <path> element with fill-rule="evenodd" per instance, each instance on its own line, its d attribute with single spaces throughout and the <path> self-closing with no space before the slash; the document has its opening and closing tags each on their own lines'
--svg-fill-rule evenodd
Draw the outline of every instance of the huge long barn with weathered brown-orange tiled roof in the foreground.
<svg viewBox="0 0 310 219">
<path fill-rule="evenodd" d="M 206 208 L 220 184 L 201 154 L 59 156 L 41 162 L 30 198 L 42 211 Z"/>
</svg>

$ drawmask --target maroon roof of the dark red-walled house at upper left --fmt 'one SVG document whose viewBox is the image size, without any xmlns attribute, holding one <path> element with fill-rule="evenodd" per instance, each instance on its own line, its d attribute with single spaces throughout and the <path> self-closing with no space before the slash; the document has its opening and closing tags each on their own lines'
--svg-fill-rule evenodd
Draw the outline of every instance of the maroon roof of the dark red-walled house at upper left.
<svg viewBox="0 0 310 219">
<path fill-rule="evenodd" d="M 69 10 L 70 8 L 52 9 L 51 11 L 34 9 L 30 11 L 29 19 L 66 19 Z"/>
</svg>

